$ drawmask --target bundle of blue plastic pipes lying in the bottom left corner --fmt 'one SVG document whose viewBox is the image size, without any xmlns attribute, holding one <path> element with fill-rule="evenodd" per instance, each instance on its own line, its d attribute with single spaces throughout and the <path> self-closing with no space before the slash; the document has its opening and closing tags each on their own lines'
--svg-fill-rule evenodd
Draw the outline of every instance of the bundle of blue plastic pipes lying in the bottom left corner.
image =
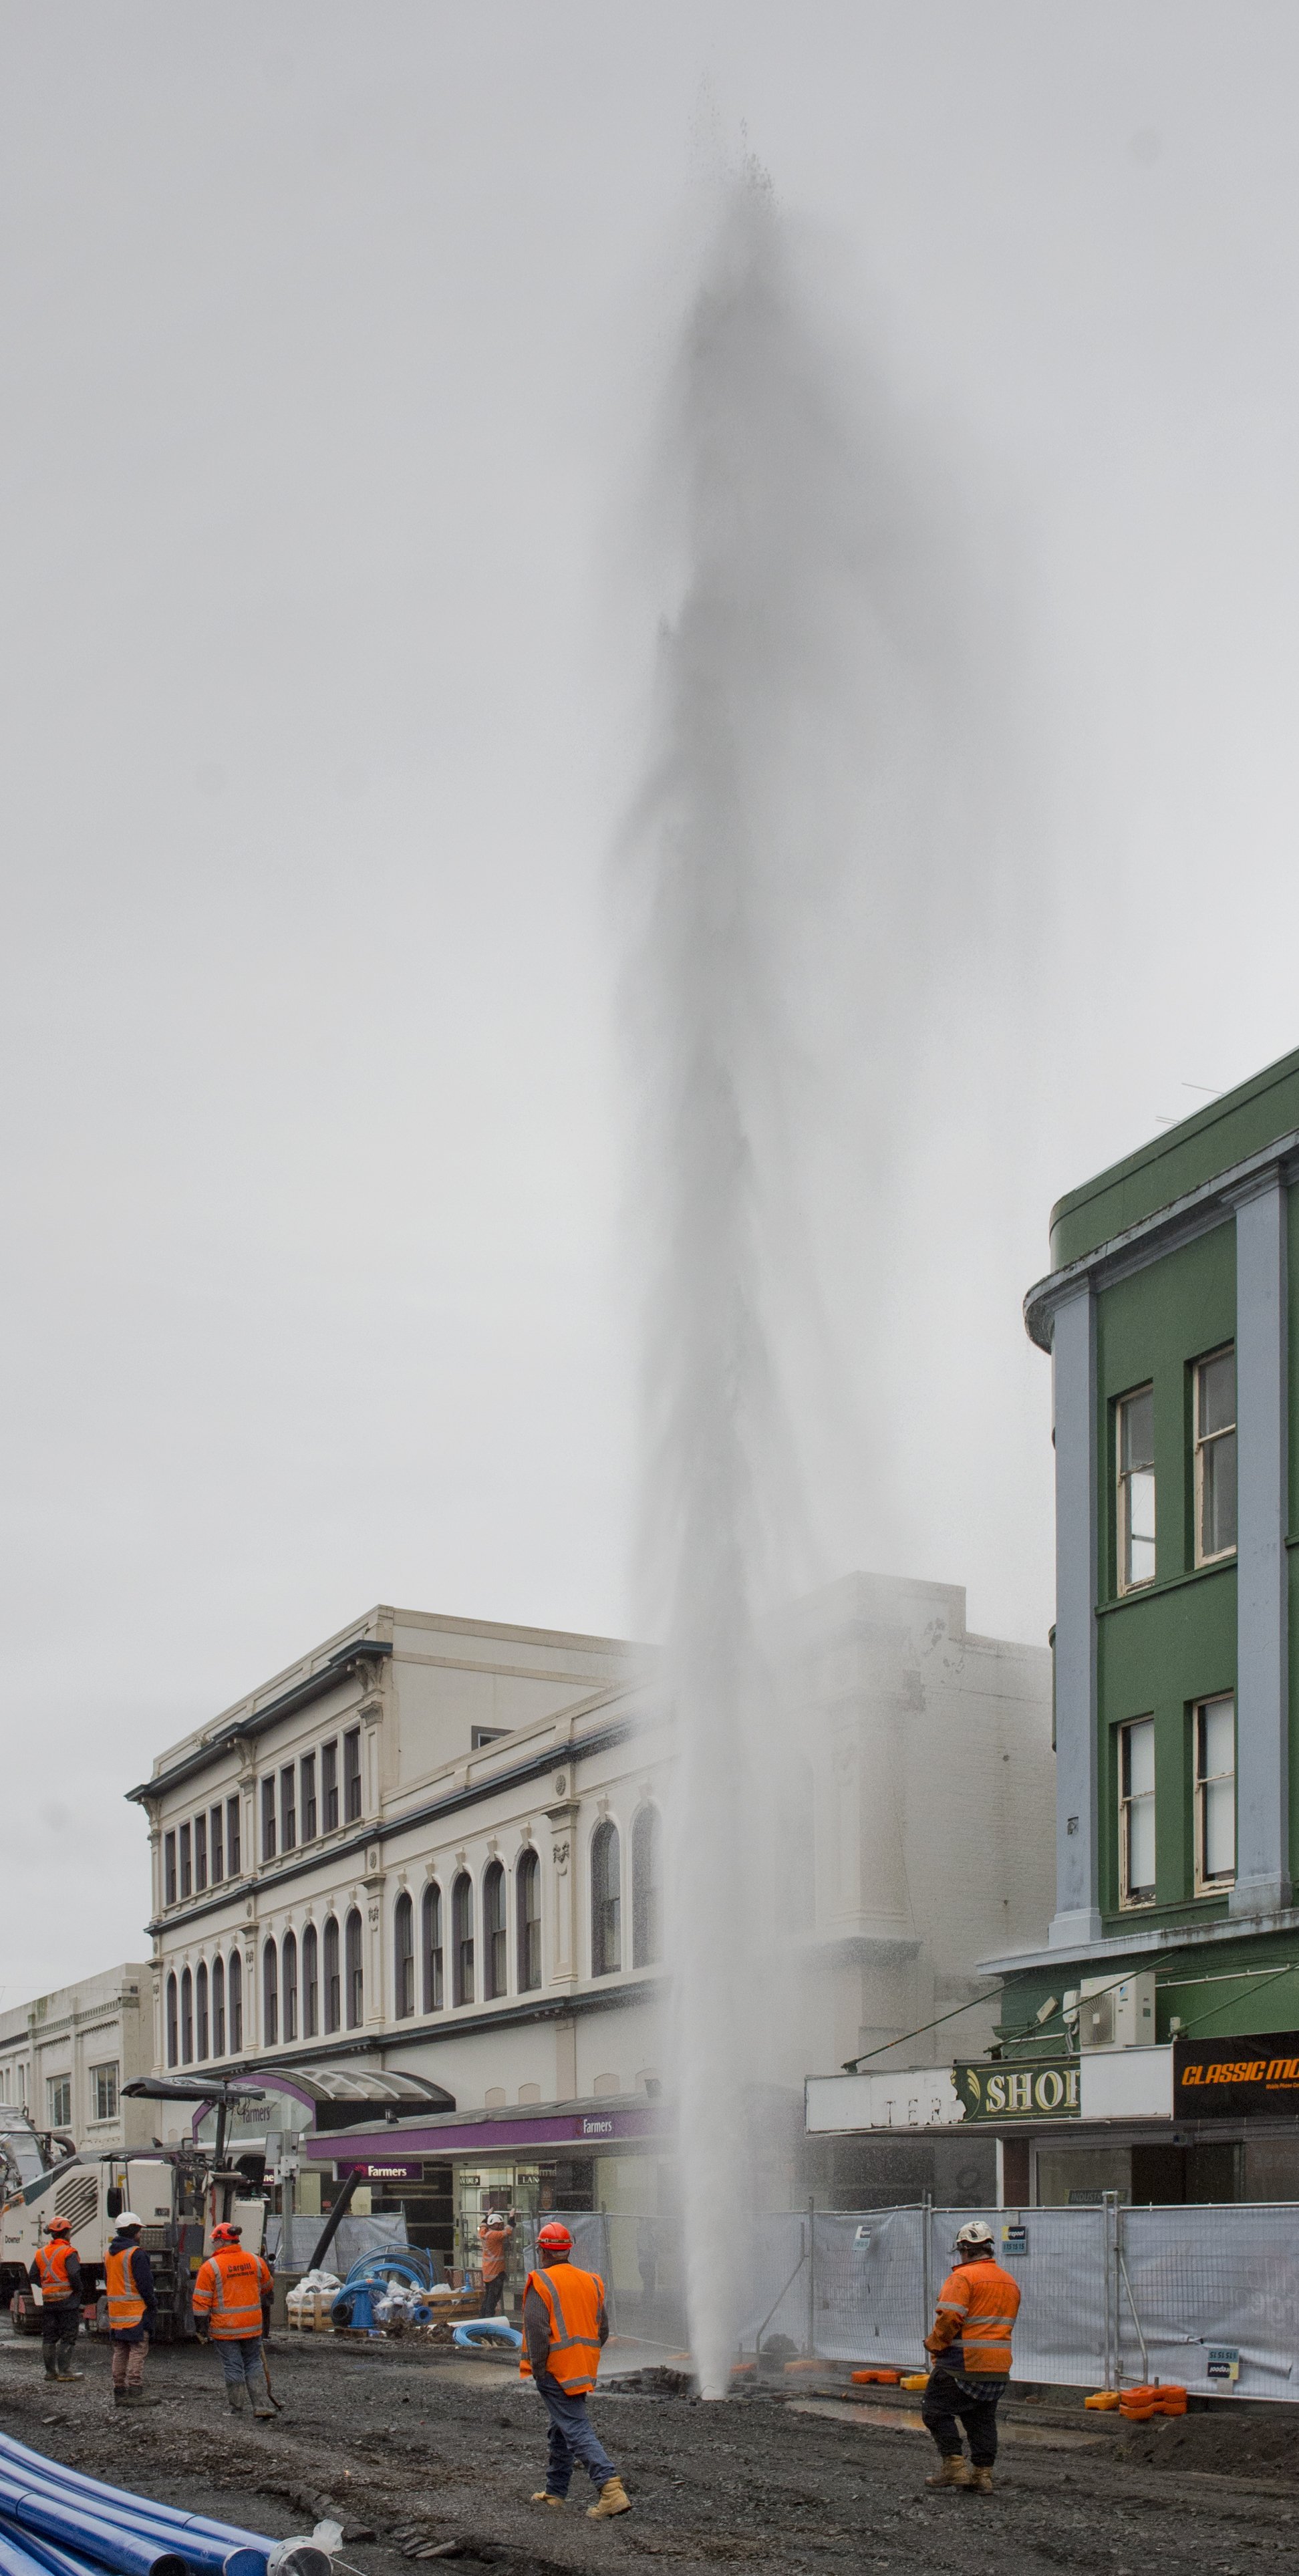
<svg viewBox="0 0 1299 2576">
<path fill-rule="evenodd" d="M 180 2514 L 0 2434 L 0 2576 L 325 2576 L 325 2550 Z"/>
</svg>

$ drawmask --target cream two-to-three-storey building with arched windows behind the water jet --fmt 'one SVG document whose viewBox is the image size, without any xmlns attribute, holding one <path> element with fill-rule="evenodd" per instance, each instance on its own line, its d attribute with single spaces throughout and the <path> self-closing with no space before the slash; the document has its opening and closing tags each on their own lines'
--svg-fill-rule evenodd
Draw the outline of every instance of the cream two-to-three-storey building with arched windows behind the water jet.
<svg viewBox="0 0 1299 2576">
<path fill-rule="evenodd" d="M 887 1577 L 794 1625 L 807 1976 L 773 2081 L 987 1996 L 951 2032 L 977 2050 L 995 1989 L 974 1963 L 1049 1917 L 1049 1654 L 967 1633 L 959 1587 Z M 601 2200 L 644 2202 L 670 2154 L 673 1945 L 647 1685 L 616 1638 L 374 1607 L 173 1744 L 131 1790 L 157 2069 L 276 2076 L 327 2094 L 335 2130 L 353 2102 L 351 2151 L 376 2164 L 387 2136 L 467 2174 L 567 2166 L 575 2190 L 585 2159 Z M 381 2107 L 397 2079 L 418 2112 Z"/>
</svg>

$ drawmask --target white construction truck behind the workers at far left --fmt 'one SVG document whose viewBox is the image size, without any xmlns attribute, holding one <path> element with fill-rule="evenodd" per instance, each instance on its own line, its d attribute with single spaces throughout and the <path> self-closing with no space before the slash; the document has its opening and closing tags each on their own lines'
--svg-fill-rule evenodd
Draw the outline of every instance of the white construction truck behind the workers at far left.
<svg viewBox="0 0 1299 2576">
<path fill-rule="evenodd" d="M 193 2336 L 191 2290 L 211 2251 L 214 2226 L 232 2221 L 242 2228 L 242 2244 L 260 2254 L 265 2195 L 240 2169 L 224 2169 L 232 2087 L 186 2087 L 142 2076 L 124 2092 L 216 2105 L 214 2154 L 188 2143 L 155 2146 L 144 2154 L 67 2154 L 64 2141 L 0 2105 L 0 2306 L 8 2303 L 15 2334 L 41 2331 L 41 2293 L 28 2275 L 36 2246 L 49 2239 L 52 2218 L 67 2218 L 72 2228 L 82 2316 L 93 2334 L 108 2331 L 103 2257 L 121 2210 L 134 2210 L 142 2221 L 139 2244 L 155 2277 L 160 2342 Z M 240 2087 L 240 2097 L 250 2099 L 247 2087 Z"/>
</svg>

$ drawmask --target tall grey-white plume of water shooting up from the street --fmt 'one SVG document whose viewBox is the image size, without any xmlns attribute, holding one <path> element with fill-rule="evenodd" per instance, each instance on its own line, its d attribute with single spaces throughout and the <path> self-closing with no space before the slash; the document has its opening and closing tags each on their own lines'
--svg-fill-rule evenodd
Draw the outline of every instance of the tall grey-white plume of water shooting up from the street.
<svg viewBox="0 0 1299 2576">
<path fill-rule="evenodd" d="M 887 1123 L 907 956 L 951 891 L 951 618 L 905 448 L 765 175 L 742 170 L 662 420 L 668 598 L 621 848 L 639 1595 L 675 1721 L 673 2089 L 706 2396 L 724 2393 L 745 2318 L 763 2105 L 807 2071 L 802 1721 L 773 1636 L 822 1571 L 807 1492 L 835 1409 L 820 1280 L 845 1177 L 830 1180 L 825 1136 L 863 1069 Z"/>
</svg>

